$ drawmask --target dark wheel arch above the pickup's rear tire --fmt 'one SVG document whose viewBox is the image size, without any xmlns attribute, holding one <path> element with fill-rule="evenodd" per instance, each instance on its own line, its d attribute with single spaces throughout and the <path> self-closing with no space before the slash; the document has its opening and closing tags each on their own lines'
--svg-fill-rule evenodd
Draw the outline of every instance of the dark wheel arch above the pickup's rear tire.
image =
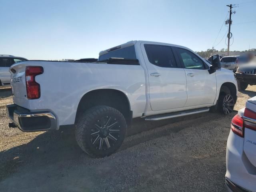
<svg viewBox="0 0 256 192">
<path fill-rule="evenodd" d="M 116 108 L 124 115 L 127 125 L 131 125 L 132 111 L 127 94 L 121 90 L 110 88 L 91 90 L 84 94 L 77 107 L 75 122 L 82 112 L 98 105 Z"/>
</svg>

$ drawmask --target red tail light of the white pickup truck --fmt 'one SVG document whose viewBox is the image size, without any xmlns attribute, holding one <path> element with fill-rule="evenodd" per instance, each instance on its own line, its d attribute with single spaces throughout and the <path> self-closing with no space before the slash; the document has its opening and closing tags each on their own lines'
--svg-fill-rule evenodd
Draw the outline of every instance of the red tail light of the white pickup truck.
<svg viewBox="0 0 256 192">
<path fill-rule="evenodd" d="M 41 66 L 26 66 L 26 88 L 28 99 L 40 98 L 40 84 L 35 80 L 37 75 L 44 72 Z"/>
</svg>

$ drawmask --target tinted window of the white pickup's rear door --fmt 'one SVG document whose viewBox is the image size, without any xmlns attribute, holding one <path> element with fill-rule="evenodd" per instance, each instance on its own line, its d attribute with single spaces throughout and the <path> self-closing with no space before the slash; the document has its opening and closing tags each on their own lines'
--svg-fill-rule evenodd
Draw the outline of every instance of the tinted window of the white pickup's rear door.
<svg viewBox="0 0 256 192">
<path fill-rule="evenodd" d="M 177 68 L 177 64 L 170 46 L 144 45 L 150 63 L 159 67 Z"/>
</svg>

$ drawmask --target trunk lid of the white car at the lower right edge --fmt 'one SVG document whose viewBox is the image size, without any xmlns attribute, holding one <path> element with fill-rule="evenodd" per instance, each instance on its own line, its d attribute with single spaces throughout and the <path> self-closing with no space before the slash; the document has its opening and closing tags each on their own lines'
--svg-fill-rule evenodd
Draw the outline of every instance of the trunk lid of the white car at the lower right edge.
<svg viewBox="0 0 256 192">
<path fill-rule="evenodd" d="M 256 97 L 246 102 L 250 114 L 244 114 L 244 153 L 249 161 L 256 167 Z M 248 118 L 249 117 L 249 118 Z M 247 120 L 246 120 L 247 119 Z"/>
</svg>

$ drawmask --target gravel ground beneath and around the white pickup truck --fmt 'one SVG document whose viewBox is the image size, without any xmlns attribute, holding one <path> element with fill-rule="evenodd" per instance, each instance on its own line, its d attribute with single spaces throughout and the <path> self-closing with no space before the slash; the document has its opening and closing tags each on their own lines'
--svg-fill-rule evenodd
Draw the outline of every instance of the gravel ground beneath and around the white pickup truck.
<svg viewBox="0 0 256 192">
<path fill-rule="evenodd" d="M 248 86 L 235 109 L 255 95 L 256 86 Z M 116 154 L 93 159 L 76 144 L 74 130 L 8 128 L 11 102 L 10 89 L 0 89 L 0 191 L 226 191 L 226 140 L 236 112 L 136 119 Z"/>
</svg>

